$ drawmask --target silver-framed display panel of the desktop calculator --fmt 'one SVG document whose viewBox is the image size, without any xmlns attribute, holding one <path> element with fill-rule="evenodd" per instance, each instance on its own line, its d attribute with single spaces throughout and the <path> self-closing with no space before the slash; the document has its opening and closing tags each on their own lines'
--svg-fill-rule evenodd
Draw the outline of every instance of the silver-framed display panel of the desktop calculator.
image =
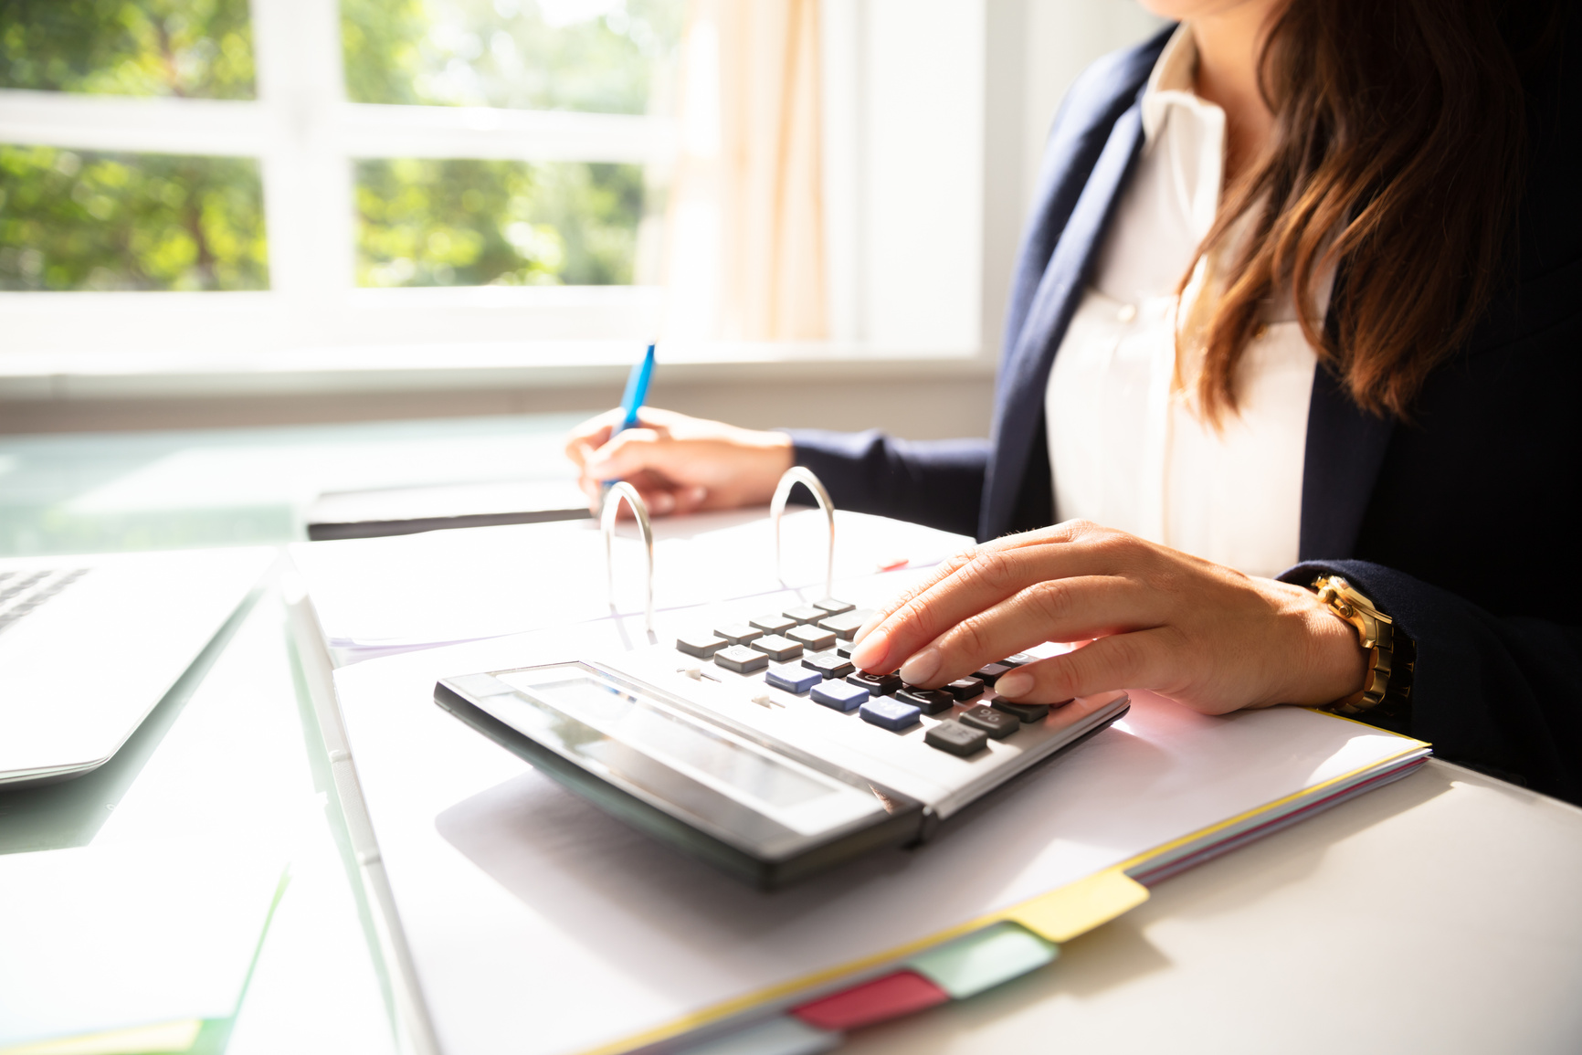
<svg viewBox="0 0 1582 1055">
<path fill-rule="evenodd" d="M 494 674 L 514 691 L 475 696 L 500 721 L 763 854 L 883 818 L 867 785 L 821 772 L 679 705 L 668 693 L 582 663 Z"/>
</svg>

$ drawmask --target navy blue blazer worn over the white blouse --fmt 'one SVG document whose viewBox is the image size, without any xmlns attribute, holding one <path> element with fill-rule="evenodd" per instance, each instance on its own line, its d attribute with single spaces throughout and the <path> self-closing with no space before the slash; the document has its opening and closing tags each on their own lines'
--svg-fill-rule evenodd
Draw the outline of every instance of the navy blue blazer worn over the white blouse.
<svg viewBox="0 0 1582 1055">
<path fill-rule="evenodd" d="M 1582 617 L 1565 554 L 1582 509 L 1582 33 L 1530 85 L 1533 157 L 1509 280 L 1410 422 L 1323 367 L 1302 476 L 1302 563 L 1349 577 L 1417 645 L 1411 732 L 1582 802 Z M 1142 146 L 1168 32 L 1109 55 L 1055 117 L 1011 294 L 990 438 L 796 430 L 838 506 L 997 538 L 1054 519 L 1044 389 Z M 1342 278 L 1343 282 L 1343 272 Z M 1411 296 L 1402 289 L 1402 296 Z"/>
</svg>

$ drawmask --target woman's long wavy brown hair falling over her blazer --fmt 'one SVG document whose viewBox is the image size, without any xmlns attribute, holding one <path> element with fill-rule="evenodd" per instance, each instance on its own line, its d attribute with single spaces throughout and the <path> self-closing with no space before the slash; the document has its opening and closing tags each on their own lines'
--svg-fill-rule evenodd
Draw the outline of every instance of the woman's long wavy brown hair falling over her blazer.
<svg viewBox="0 0 1582 1055">
<path fill-rule="evenodd" d="M 1259 59 L 1272 141 L 1202 244 L 1229 263 L 1201 326 L 1210 419 L 1236 408 L 1237 362 L 1275 296 L 1296 297 L 1361 406 L 1408 414 L 1498 285 L 1523 183 L 1523 73 L 1557 25 L 1555 0 L 1291 0 L 1274 16 Z M 1335 264 L 1326 326 L 1316 285 Z"/>
</svg>

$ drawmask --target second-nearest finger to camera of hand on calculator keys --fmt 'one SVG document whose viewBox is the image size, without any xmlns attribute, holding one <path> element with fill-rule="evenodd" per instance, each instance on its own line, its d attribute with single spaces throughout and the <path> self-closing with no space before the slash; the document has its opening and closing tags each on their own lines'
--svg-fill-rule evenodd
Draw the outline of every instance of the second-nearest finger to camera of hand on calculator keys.
<svg viewBox="0 0 1582 1055">
<path fill-rule="evenodd" d="M 1090 641 L 1158 626 L 1158 596 L 1130 579 L 1046 579 L 963 618 L 900 666 L 911 685 L 937 686 L 1046 641 Z"/>
</svg>

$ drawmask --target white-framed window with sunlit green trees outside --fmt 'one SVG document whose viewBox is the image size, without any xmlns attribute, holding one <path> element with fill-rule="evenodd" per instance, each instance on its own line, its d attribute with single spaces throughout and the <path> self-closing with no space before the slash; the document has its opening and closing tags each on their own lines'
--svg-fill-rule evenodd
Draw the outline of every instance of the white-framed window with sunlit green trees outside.
<svg viewBox="0 0 1582 1055">
<path fill-rule="evenodd" d="M 0 289 L 204 294 L 255 348 L 468 308 L 475 337 L 638 332 L 682 6 L 11 0 Z M 9 307 L 193 329 L 190 297 L 60 301 Z"/>
</svg>

